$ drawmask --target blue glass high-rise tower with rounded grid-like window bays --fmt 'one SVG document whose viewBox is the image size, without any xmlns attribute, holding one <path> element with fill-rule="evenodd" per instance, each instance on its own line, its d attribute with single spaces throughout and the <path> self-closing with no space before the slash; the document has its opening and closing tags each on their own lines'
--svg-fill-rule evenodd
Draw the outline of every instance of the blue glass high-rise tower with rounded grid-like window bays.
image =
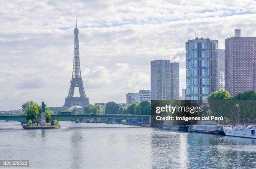
<svg viewBox="0 0 256 169">
<path fill-rule="evenodd" d="M 207 100 L 218 90 L 218 40 L 186 42 L 186 100 Z"/>
</svg>

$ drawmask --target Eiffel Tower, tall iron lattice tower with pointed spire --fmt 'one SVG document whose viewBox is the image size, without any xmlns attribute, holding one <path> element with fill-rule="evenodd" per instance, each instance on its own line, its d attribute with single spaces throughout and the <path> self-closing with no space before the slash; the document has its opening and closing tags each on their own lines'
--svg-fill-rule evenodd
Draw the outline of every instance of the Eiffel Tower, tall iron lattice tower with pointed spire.
<svg viewBox="0 0 256 169">
<path fill-rule="evenodd" d="M 89 105 L 89 98 L 86 97 L 84 92 L 84 86 L 80 70 L 80 58 L 79 58 L 79 44 L 78 44 L 78 33 L 77 28 L 77 19 L 76 19 L 76 28 L 74 28 L 74 63 L 73 63 L 73 73 L 72 80 L 70 81 L 69 94 L 65 98 L 65 103 L 63 107 L 72 107 L 72 106 L 87 106 Z M 79 88 L 80 97 L 74 97 L 75 87 Z"/>
</svg>

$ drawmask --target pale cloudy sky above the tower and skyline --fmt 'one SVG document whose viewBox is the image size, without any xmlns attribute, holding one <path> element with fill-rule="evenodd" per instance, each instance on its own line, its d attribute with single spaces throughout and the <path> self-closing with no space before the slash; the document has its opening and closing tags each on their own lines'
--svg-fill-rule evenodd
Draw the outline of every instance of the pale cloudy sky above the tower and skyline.
<svg viewBox="0 0 256 169">
<path fill-rule="evenodd" d="M 184 45 L 219 40 L 241 28 L 256 36 L 254 0 L 0 0 L 0 110 L 25 101 L 62 106 L 72 76 L 75 18 L 84 88 L 90 103 L 125 102 L 125 93 L 150 89 L 150 61 L 180 63 Z M 181 94 L 181 92 L 180 92 Z"/>
</svg>

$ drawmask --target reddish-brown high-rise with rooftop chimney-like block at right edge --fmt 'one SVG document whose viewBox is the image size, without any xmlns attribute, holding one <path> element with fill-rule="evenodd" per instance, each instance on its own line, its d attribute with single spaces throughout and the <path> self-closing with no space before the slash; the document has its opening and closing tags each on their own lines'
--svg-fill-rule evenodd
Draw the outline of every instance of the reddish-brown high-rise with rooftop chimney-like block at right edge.
<svg viewBox="0 0 256 169">
<path fill-rule="evenodd" d="M 225 88 L 231 96 L 256 90 L 256 37 L 235 36 L 225 39 Z"/>
</svg>

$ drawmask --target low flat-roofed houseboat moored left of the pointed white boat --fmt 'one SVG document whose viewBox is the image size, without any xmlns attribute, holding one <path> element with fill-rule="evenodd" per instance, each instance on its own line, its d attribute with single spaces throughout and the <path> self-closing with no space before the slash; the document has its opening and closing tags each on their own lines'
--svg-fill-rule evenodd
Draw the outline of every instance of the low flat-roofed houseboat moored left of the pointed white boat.
<svg viewBox="0 0 256 169">
<path fill-rule="evenodd" d="M 190 132 L 207 133 L 207 134 L 224 134 L 223 125 L 192 125 L 188 127 Z"/>
</svg>

